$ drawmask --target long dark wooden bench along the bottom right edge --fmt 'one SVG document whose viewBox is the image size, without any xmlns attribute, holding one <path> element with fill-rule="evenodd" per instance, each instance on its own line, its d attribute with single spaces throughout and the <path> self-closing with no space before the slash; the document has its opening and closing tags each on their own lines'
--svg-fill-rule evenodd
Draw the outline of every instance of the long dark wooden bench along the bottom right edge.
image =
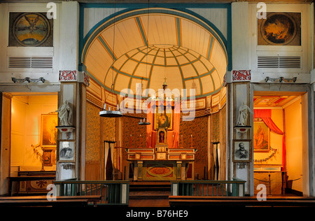
<svg viewBox="0 0 315 221">
<path fill-rule="evenodd" d="M 169 196 L 169 206 L 315 206 L 315 197 L 204 197 Z"/>
</svg>

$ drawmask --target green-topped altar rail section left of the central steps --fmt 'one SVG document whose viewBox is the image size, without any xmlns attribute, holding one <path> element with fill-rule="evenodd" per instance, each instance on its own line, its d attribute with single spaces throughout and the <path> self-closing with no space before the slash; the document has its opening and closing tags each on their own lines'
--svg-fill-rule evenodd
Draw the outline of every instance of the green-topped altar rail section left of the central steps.
<svg viewBox="0 0 315 221">
<path fill-rule="evenodd" d="M 129 181 L 117 180 L 56 180 L 59 196 L 101 195 L 100 205 L 128 206 Z"/>
</svg>

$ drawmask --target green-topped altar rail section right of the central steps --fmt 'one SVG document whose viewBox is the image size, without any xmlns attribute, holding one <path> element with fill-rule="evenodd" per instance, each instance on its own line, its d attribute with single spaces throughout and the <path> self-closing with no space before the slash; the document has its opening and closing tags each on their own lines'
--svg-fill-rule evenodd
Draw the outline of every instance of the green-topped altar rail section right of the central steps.
<svg viewBox="0 0 315 221">
<path fill-rule="evenodd" d="M 171 183 L 172 196 L 244 197 L 246 181 L 232 178 L 232 180 L 176 180 Z"/>
</svg>

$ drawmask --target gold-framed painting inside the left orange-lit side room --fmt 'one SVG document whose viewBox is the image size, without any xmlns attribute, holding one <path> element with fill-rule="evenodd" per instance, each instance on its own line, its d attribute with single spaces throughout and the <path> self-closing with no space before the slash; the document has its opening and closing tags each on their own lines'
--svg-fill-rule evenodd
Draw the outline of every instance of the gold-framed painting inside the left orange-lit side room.
<svg viewBox="0 0 315 221">
<path fill-rule="evenodd" d="M 55 147 L 57 145 L 57 113 L 41 115 L 41 146 Z"/>
</svg>

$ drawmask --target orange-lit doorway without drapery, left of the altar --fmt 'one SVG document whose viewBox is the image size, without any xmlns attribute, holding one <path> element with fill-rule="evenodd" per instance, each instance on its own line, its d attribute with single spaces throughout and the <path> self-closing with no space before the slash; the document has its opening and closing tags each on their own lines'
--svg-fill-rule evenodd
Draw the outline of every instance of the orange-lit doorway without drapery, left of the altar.
<svg viewBox="0 0 315 221">
<path fill-rule="evenodd" d="M 10 176 L 55 176 L 57 93 L 10 93 Z M 39 194 L 51 180 L 20 181 L 18 194 Z"/>
</svg>

